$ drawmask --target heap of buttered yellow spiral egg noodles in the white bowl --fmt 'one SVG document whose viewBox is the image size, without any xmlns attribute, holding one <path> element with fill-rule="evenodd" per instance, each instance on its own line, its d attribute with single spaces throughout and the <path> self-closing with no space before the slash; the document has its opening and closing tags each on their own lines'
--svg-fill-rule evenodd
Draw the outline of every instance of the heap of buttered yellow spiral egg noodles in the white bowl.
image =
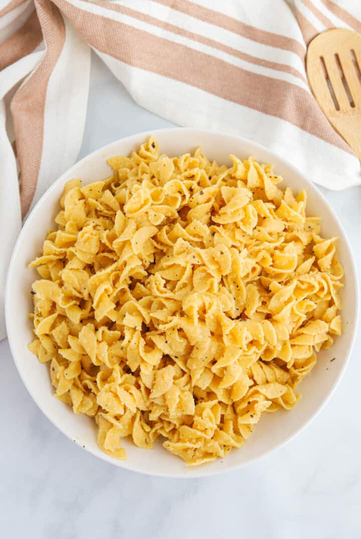
<svg viewBox="0 0 361 539">
<path fill-rule="evenodd" d="M 30 267 L 35 340 L 55 396 L 94 417 L 100 448 L 157 438 L 189 466 L 240 447 L 290 410 L 340 335 L 337 238 L 306 193 L 254 157 L 169 158 L 151 137 L 113 175 L 68 182 Z"/>
</svg>

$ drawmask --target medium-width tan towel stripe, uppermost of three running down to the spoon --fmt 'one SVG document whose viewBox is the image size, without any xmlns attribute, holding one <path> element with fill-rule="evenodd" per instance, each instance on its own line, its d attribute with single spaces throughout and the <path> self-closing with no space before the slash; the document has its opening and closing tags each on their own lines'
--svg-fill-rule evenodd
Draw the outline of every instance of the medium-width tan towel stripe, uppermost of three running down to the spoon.
<svg viewBox="0 0 361 539">
<path fill-rule="evenodd" d="M 220 26 L 224 30 L 229 30 L 230 32 L 239 34 L 240 36 L 246 37 L 258 43 L 262 43 L 263 45 L 269 45 L 271 47 L 277 47 L 278 49 L 295 52 L 299 57 L 302 58 L 302 60 L 304 59 L 306 52 L 305 48 L 296 39 L 282 36 L 281 34 L 276 34 L 274 32 L 261 30 L 255 26 L 243 23 L 241 20 L 224 15 L 224 13 L 219 11 L 214 11 L 212 9 L 204 8 L 199 4 L 188 2 L 188 0 L 153 1 L 166 5 L 169 8 L 175 9 L 176 11 L 181 11 L 182 13 L 190 15 L 196 19 L 200 19 L 203 22 Z"/>
</svg>

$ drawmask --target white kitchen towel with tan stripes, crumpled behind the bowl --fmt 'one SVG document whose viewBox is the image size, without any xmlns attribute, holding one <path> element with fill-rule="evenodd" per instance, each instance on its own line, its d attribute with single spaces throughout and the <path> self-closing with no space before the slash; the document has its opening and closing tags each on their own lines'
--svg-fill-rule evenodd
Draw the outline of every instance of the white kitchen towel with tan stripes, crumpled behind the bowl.
<svg viewBox="0 0 361 539">
<path fill-rule="evenodd" d="M 248 137 L 330 189 L 360 184 L 304 67 L 334 26 L 361 32 L 360 0 L 0 0 L 1 287 L 22 218 L 76 161 L 91 48 L 155 114 Z"/>
</svg>

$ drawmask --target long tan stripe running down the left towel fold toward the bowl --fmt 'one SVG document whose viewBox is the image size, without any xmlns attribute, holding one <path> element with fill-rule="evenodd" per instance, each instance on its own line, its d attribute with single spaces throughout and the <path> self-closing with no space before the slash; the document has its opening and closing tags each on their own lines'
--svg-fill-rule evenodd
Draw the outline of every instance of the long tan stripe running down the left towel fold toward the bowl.
<svg viewBox="0 0 361 539">
<path fill-rule="evenodd" d="M 46 55 L 11 102 L 21 172 L 23 216 L 28 212 L 35 194 L 42 158 L 47 83 L 65 41 L 64 21 L 58 8 L 49 0 L 36 0 L 36 8 L 47 47 Z"/>
</svg>

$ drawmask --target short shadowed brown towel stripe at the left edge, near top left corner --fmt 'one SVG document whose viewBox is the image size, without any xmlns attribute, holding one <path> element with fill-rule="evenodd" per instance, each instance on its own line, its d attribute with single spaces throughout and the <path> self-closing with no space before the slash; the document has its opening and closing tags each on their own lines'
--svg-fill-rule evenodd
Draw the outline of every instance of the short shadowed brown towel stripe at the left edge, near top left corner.
<svg viewBox="0 0 361 539">
<path fill-rule="evenodd" d="M 23 26 L 0 44 L 0 71 L 30 54 L 42 40 L 42 29 L 34 10 Z"/>
</svg>

